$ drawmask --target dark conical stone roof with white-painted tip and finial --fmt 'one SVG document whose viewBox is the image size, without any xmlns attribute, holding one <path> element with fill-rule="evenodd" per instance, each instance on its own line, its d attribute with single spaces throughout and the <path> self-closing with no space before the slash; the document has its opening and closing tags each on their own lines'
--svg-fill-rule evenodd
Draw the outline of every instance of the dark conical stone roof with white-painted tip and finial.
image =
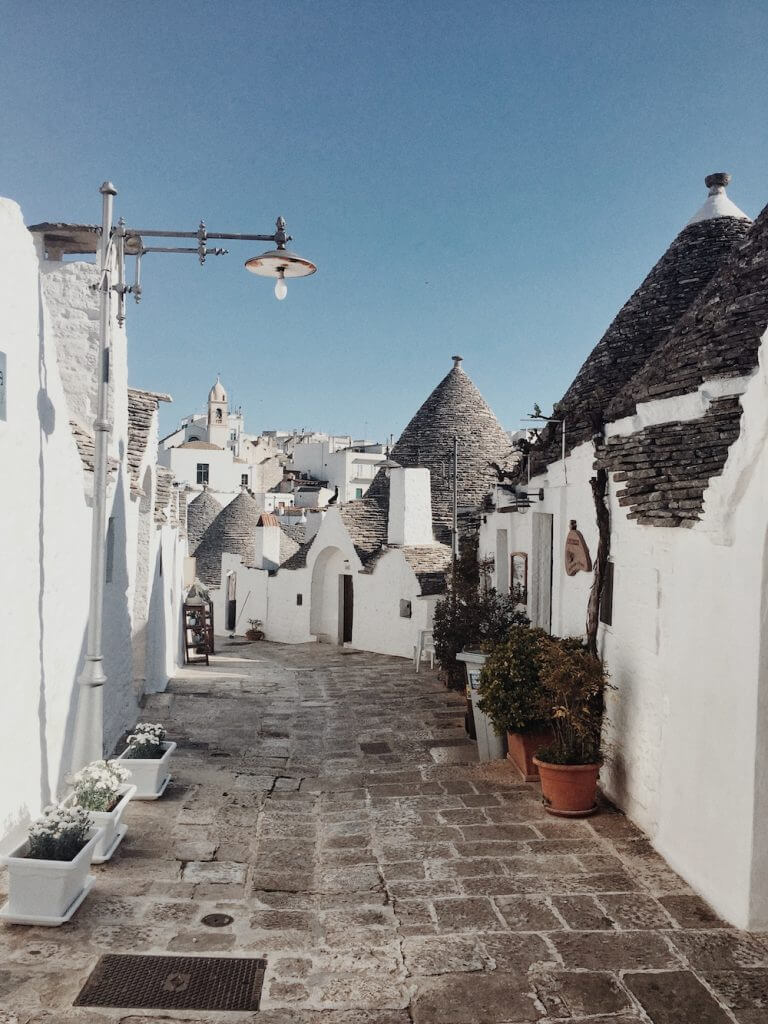
<svg viewBox="0 0 768 1024">
<path fill-rule="evenodd" d="M 728 179 L 727 174 L 706 179 L 708 202 L 620 309 L 555 407 L 555 417 L 565 419 L 567 452 L 590 439 L 611 399 L 666 342 L 746 234 L 752 222 L 725 196 Z M 545 427 L 531 452 L 532 471 L 560 458 L 561 439 L 559 424 Z"/>
</svg>

